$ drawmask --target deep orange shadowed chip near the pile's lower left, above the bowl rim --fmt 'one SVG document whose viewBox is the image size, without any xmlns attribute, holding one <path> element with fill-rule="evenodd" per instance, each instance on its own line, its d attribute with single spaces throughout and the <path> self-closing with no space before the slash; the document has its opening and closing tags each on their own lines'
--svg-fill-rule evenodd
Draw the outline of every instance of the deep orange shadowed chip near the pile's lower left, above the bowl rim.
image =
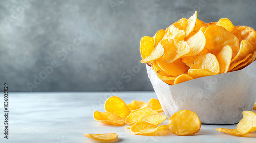
<svg viewBox="0 0 256 143">
<path fill-rule="evenodd" d="M 173 63 L 165 63 L 163 61 L 158 61 L 157 63 L 164 72 L 172 76 L 181 75 L 186 71 L 186 64 L 183 63 L 180 59 L 174 61 Z"/>
</svg>

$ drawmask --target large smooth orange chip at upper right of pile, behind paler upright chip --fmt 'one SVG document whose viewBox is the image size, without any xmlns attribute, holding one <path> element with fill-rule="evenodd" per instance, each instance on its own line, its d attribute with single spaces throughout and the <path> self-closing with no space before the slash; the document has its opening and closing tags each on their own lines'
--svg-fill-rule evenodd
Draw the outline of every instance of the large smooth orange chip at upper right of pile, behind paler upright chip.
<svg viewBox="0 0 256 143">
<path fill-rule="evenodd" d="M 209 26 L 204 32 L 206 38 L 205 48 L 214 55 L 217 55 L 221 49 L 229 45 L 232 48 L 232 58 L 237 55 L 239 51 L 239 40 L 236 35 L 227 31 L 221 26 Z"/>
</svg>

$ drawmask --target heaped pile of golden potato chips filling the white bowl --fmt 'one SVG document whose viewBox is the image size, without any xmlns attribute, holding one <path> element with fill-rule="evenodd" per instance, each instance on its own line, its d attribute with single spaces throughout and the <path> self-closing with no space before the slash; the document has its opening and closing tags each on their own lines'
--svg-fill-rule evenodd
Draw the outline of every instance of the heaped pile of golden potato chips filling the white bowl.
<svg viewBox="0 0 256 143">
<path fill-rule="evenodd" d="M 204 23 L 197 11 L 140 43 L 147 63 L 169 85 L 243 69 L 256 58 L 256 31 L 227 18 Z"/>
</svg>

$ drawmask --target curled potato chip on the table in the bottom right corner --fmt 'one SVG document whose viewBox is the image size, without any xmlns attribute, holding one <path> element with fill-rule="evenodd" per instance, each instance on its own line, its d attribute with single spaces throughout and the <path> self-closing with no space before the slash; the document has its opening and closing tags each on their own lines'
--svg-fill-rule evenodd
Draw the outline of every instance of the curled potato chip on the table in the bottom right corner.
<svg viewBox="0 0 256 143">
<path fill-rule="evenodd" d="M 215 130 L 235 136 L 243 136 L 249 132 L 256 131 L 256 113 L 243 111 L 243 116 L 243 119 L 237 124 L 236 129 L 216 128 Z"/>
</svg>

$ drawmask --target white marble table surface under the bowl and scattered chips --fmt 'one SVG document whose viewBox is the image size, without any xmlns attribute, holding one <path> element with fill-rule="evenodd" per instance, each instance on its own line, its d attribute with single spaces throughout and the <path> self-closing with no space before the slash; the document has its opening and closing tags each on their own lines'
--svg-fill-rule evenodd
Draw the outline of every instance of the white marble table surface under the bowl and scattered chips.
<svg viewBox="0 0 256 143">
<path fill-rule="evenodd" d="M 154 92 L 117 92 L 126 103 L 132 100 L 148 101 L 157 98 Z M 192 136 L 133 135 L 124 126 L 98 123 L 93 119 L 95 110 L 104 111 L 104 102 L 110 92 L 32 92 L 9 93 L 9 139 L 4 139 L 4 117 L 0 116 L 0 142 L 98 142 L 83 136 L 84 133 L 115 132 L 117 140 L 109 142 L 256 142 L 256 132 L 236 137 L 215 131 L 215 128 L 236 128 L 234 125 L 202 125 Z M 1 112 L 3 113 L 2 96 Z M 255 112 L 255 110 L 254 110 Z M 162 123 L 167 124 L 167 120 Z"/>
</svg>

